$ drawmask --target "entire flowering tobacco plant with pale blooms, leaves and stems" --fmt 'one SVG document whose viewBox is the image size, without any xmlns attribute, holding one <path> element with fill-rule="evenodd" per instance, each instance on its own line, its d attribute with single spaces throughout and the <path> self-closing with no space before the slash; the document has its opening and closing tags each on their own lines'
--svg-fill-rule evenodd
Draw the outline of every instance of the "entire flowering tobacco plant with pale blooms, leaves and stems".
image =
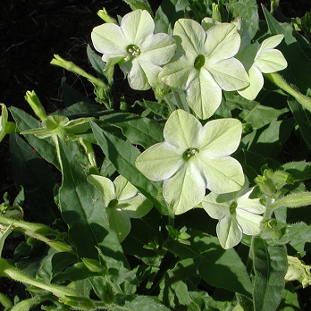
<svg viewBox="0 0 311 311">
<path fill-rule="evenodd" d="M 1 104 L 19 192 L 0 205 L 0 276 L 25 293 L 0 293 L 0 303 L 303 310 L 308 38 L 265 7 L 259 21 L 254 0 L 126 2 L 123 17 L 98 12 L 105 23 L 87 50 L 94 72 L 60 55 L 51 62 L 88 80 L 95 97 L 63 83 L 66 107 L 55 113 L 35 91 L 25 96 L 34 116 Z M 149 99 L 116 100 L 115 66 Z M 17 236 L 25 240 L 4 259 Z"/>
</svg>

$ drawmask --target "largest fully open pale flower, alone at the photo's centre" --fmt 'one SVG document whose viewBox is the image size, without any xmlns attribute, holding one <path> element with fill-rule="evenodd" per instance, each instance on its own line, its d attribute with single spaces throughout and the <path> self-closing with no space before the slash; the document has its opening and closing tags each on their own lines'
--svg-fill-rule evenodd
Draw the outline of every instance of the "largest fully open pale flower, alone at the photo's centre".
<svg viewBox="0 0 311 311">
<path fill-rule="evenodd" d="M 147 148 L 136 166 L 152 181 L 164 181 L 164 199 L 173 214 L 197 206 L 206 188 L 216 193 L 241 189 L 244 175 L 231 155 L 240 144 L 242 125 L 220 119 L 202 126 L 190 113 L 176 110 L 164 126 L 164 142 Z"/>
</svg>

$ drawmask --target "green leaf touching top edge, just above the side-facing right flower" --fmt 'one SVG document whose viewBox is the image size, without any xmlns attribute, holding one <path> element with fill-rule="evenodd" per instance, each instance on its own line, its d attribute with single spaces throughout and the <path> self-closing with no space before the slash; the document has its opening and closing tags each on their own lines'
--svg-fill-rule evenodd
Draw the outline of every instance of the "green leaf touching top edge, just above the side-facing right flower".
<svg viewBox="0 0 311 311">
<path fill-rule="evenodd" d="M 256 1 L 230 1 L 229 10 L 233 11 L 233 17 L 242 17 L 247 22 L 250 38 L 253 38 L 256 35 L 259 24 L 258 6 L 256 4 Z"/>
</svg>

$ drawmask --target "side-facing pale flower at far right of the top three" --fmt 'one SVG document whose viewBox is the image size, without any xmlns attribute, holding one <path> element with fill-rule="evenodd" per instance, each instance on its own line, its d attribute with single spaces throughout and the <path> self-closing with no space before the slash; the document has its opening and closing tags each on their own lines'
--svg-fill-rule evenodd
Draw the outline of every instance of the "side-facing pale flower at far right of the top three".
<svg viewBox="0 0 311 311">
<path fill-rule="evenodd" d="M 262 44 L 255 42 L 245 46 L 236 57 L 244 64 L 249 75 L 249 86 L 238 90 L 242 97 L 253 100 L 264 86 L 263 73 L 282 71 L 287 67 L 287 62 L 282 52 L 275 49 L 284 35 L 275 35 L 266 38 Z M 263 73 L 262 73 L 263 72 Z"/>
</svg>

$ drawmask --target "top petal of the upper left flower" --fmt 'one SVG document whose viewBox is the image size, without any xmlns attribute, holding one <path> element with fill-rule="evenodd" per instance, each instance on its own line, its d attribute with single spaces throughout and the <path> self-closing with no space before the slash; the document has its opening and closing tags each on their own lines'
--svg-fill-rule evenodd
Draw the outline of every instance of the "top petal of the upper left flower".
<svg viewBox="0 0 311 311">
<path fill-rule="evenodd" d="M 155 22 L 146 10 L 135 10 L 123 16 L 121 29 L 129 44 L 139 46 L 153 35 Z"/>
</svg>

